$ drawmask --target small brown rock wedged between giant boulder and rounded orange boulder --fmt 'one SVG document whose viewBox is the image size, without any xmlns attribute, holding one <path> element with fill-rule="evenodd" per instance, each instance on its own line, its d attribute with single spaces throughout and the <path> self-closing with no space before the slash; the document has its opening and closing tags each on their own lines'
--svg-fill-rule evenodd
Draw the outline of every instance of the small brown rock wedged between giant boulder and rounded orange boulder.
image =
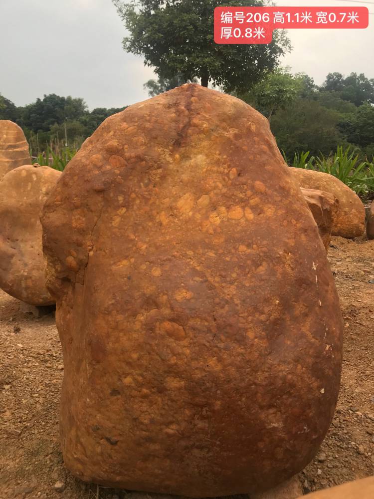
<svg viewBox="0 0 374 499">
<path fill-rule="evenodd" d="M 312 212 L 326 253 L 329 251 L 333 223 L 339 209 L 338 199 L 329 192 L 303 189 L 301 192 Z"/>
</svg>

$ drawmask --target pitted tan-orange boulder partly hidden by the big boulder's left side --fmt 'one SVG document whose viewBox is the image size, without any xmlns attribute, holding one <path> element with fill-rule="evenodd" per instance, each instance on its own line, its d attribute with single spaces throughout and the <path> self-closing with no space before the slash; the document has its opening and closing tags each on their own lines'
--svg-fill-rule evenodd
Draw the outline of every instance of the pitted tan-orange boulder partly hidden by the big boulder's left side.
<svg viewBox="0 0 374 499">
<path fill-rule="evenodd" d="M 0 288 L 30 305 L 51 305 L 40 211 L 61 172 L 24 165 L 0 181 Z"/>
</svg>

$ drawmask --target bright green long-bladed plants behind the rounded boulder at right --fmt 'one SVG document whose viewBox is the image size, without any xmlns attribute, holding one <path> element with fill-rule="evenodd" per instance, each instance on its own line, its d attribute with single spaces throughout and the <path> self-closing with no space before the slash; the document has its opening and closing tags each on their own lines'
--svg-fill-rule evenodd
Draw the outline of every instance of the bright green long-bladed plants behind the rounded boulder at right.
<svg viewBox="0 0 374 499">
<path fill-rule="evenodd" d="M 336 152 L 330 153 L 329 156 L 320 154 L 320 156 L 309 158 L 309 154 L 309 151 L 295 153 L 293 163 L 290 166 L 333 175 L 361 197 L 367 197 L 374 193 L 374 158 L 372 162 L 360 162 L 359 155 L 351 147 L 344 150 L 340 146 L 337 147 Z M 284 152 L 283 157 L 289 164 Z"/>
</svg>

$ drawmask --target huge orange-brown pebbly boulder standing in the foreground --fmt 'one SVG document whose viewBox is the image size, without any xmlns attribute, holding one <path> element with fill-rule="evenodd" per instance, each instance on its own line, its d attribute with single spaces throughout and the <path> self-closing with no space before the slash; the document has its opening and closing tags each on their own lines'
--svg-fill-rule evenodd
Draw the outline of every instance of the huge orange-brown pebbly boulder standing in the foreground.
<svg viewBox="0 0 374 499">
<path fill-rule="evenodd" d="M 335 410 L 342 318 L 262 115 L 195 84 L 130 106 L 69 163 L 42 226 L 74 475 L 211 497 L 310 462 Z"/>
</svg>

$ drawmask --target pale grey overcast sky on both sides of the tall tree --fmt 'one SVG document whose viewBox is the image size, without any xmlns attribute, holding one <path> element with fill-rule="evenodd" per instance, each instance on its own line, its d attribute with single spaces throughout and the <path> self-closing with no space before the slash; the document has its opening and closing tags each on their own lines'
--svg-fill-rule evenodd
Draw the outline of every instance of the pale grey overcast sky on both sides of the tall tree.
<svg viewBox="0 0 374 499">
<path fill-rule="evenodd" d="M 277 5 L 358 6 L 344 0 L 277 0 Z M 372 2 L 360 2 L 374 12 Z M 83 97 L 90 109 L 144 100 L 153 77 L 122 49 L 125 34 L 111 0 L 0 0 L 0 93 L 17 106 L 43 94 Z M 374 15 L 365 30 L 295 29 L 282 64 L 321 84 L 328 72 L 374 78 Z"/>
</svg>

